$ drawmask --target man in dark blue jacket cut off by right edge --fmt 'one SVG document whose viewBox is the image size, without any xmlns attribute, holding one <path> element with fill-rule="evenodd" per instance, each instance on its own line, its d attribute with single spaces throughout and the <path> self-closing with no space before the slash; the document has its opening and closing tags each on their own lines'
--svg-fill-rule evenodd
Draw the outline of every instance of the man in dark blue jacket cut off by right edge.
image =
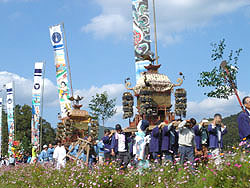
<svg viewBox="0 0 250 188">
<path fill-rule="evenodd" d="M 242 103 L 245 107 L 245 112 L 241 112 L 237 119 L 239 135 L 241 140 L 250 142 L 250 96 L 244 97 Z"/>
</svg>

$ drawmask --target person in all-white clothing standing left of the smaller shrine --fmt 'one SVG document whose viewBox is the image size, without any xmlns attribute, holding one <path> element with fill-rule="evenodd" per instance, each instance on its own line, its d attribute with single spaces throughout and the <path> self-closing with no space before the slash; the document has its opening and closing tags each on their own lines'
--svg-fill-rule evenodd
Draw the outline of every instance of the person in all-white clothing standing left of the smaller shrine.
<svg viewBox="0 0 250 188">
<path fill-rule="evenodd" d="M 66 149 L 59 141 L 53 153 L 53 159 L 56 162 L 56 168 L 61 169 L 64 168 L 66 165 Z"/>
</svg>

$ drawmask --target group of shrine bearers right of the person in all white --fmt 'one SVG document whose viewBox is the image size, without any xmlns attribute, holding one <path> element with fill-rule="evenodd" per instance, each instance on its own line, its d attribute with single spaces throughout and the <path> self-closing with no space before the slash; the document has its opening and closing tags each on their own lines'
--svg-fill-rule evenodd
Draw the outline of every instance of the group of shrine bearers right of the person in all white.
<svg viewBox="0 0 250 188">
<path fill-rule="evenodd" d="M 159 121 L 152 130 L 149 130 L 147 120 L 141 120 L 139 124 L 140 131 L 137 132 L 123 131 L 121 125 L 117 124 L 114 131 L 105 129 L 101 140 L 86 137 L 91 143 L 88 166 L 91 168 L 96 163 L 102 165 L 117 160 L 120 168 L 126 169 L 128 165 L 138 164 L 142 160 L 161 164 L 162 161 L 175 163 L 176 158 L 179 158 L 180 164 L 185 161 L 194 164 L 196 157 L 206 162 L 209 153 L 216 164 L 221 162 L 220 153 L 227 127 L 222 123 L 220 114 L 215 114 L 211 123 L 203 119 L 197 124 L 194 118 L 169 124 Z M 86 162 L 87 153 L 83 151 L 79 155 L 79 145 L 70 146 L 69 150 L 70 155 Z"/>
</svg>

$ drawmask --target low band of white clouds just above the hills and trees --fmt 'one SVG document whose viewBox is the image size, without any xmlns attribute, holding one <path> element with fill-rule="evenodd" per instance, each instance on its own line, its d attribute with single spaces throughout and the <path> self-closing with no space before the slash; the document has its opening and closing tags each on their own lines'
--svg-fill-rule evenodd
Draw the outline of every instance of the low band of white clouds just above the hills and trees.
<svg viewBox="0 0 250 188">
<path fill-rule="evenodd" d="M 16 104 L 31 104 L 33 80 L 26 79 L 10 72 L 0 72 L 0 89 L 4 84 L 11 81 L 15 82 Z M 109 119 L 105 125 L 113 127 L 115 124 L 120 123 L 123 127 L 127 127 L 128 120 L 122 119 L 122 94 L 125 90 L 126 89 L 122 84 L 107 84 L 101 87 L 92 86 L 89 89 L 78 89 L 75 90 L 75 94 L 79 94 L 84 97 L 82 101 L 83 109 L 88 110 L 88 104 L 92 96 L 96 93 L 107 91 L 110 98 L 117 99 L 117 113 L 113 118 Z M 0 96 L 2 96 L 2 94 L 0 94 Z M 239 95 L 243 98 L 244 96 L 250 94 L 247 92 L 239 92 Z M 53 109 L 55 107 L 59 107 L 57 86 L 48 79 L 45 79 L 44 104 L 45 106 Z M 204 117 L 213 117 L 215 113 L 221 113 L 224 117 L 236 114 L 241 111 L 241 108 L 236 97 L 231 96 L 229 100 L 206 98 L 202 101 L 189 101 L 187 111 L 188 117 L 194 117 L 197 120 L 200 120 Z M 134 112 L 136 112 L 135 108 Z"/>
</svg>

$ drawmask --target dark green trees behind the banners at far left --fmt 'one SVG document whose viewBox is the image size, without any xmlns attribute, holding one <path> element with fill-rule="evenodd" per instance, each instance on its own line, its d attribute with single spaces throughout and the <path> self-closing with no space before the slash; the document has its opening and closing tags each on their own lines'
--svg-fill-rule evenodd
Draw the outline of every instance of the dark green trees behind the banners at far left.
<svg viewBox="0 0 250 188">
<path fill-rule="evenodd" d="M 21 148 L 25 152 L 31 152 L 31 118 L 32 108 L 29 105 L 15 106 L 15 140 L 20 141 Z M 42 145 L 54 143 L 55 130 L 45 119 L 42 121 Z M 8 153 L 8 124 L 7 114 L 3 111 L 2 116 L 2 155 Z"/>
</svg>

